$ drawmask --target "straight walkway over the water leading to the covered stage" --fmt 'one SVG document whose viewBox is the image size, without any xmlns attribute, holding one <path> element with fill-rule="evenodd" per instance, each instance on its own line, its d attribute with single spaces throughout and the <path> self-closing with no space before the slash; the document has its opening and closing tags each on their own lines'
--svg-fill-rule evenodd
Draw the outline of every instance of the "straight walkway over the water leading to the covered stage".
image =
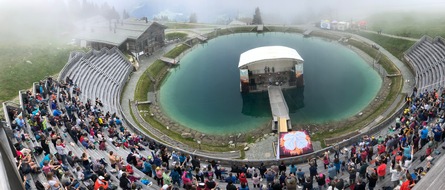
<svg viewBox="0 0 445 190">
<path fill-rule="evenodd" d="M 279 132 L 287 132 L 291 129 L 289 108 L 283 96 L 280 86 L 269 86 L 269 103 L 272 110 L 273 124 L 272 130 L 279 130 Z"/>
</svg>

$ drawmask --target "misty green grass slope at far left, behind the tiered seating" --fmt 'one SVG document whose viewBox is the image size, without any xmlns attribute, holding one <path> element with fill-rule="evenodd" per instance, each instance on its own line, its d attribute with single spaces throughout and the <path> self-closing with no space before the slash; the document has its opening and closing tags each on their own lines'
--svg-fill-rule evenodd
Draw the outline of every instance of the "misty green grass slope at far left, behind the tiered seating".
<svg viewBox="0 0 445 190">
<path fill-rule="evenodd" d="M 56 75 L 72 50 L 70 46 L 0 46 L 0 102 L 15 98 L 33 82 Z"/>
</svg>

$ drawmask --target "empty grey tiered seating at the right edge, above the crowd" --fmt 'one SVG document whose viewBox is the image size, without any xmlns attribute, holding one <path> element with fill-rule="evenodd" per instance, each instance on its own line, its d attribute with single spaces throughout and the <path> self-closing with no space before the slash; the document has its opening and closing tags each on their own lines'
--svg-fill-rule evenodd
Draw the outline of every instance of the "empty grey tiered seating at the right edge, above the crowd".
<svg viewBox="0 0 445 190">
<path fill-rule="evenodd" d="M 424 36 L 405 52 L 416 72 L 417 87 L 431 90 L 445 84 L 445 40 Z"/>
</svg>

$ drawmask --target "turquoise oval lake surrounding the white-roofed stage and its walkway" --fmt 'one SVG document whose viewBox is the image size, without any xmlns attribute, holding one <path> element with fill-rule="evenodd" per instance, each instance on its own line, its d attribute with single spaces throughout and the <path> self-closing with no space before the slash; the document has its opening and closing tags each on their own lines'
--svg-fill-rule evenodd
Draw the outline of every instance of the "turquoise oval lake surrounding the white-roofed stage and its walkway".
<svg viewBox="0 0 445 190">
<path fill-rule="evenodd" d="M 305 87 L 284 91 L 294 124 L 351 117 L 381 87 L 378 73 L 341 44 L 289 33 L 232 34 L 195 46 L 170 70 L 160 89 L 164 113 L 208 134 L 246 132 L 270 123 L 267 92 L 240 93 L 238 62 L 241 53 L 271 45 L 294 48 L 304 59 Z"/>
</svg>

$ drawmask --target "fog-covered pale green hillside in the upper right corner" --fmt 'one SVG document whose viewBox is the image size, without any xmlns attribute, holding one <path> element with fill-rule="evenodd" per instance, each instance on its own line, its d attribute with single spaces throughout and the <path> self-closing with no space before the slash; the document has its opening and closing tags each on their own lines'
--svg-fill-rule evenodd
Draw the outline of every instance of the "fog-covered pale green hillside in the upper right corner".
<svg viewBox="0 0 445 190">
<path fill-rule="evenodd" d="M 374 14 L 366 19 L 368 29 L 397 36 L 420 38 L 423 35 L 445 37 L 443 11 L 398 11 Z"/>
</svg>

